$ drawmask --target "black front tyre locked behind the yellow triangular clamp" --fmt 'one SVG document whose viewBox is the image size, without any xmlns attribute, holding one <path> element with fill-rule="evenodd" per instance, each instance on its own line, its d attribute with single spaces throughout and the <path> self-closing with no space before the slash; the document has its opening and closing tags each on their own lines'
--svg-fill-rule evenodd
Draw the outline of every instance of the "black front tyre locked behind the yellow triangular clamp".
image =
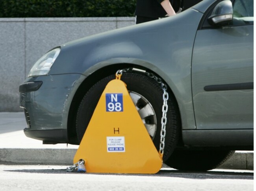
<svg viewBox="0 0 256 191">
<path fill-rule="evenodd" d="M 99 82 L 97 82 L 83 97 L 78 112 L 76 115 L 76 132 L 78 142 L 80 143 L 85 133 L 85 130 L 89 124 L 89 121 L 93 115 L 93 111 L 96 108 L 98 100 L 102 95 L 107 83 L 115 79 L 115 75 L 108 76 Z M 150 126 L 148 130 L 156 149 L 159 150 L 160 146 L 160 131 L 161 131 L 161 117 L 162 117 L 162 105 L 163 105 L 163 91 L 161 85 L 153 78 L 150 78 L 143 74 L 137 73 L 124 73 L 121 80 L 126 83 L 127 89 L 130 92 L 130 96 L 134 101 L 135 97 L 141 96 L 136 104 L 137 110 L 142 111 L 146 105 L 150 105 L 151 113 L 143 119 L 145 126 Z M 133 95 L 132 95 L 133 94 Z M 174 96 L 169 93 L 168 112 L 167 112 L 167 124 L 166 124 L 166 136 L 165 136 L 165 150 L 163 160 L 167 159 L 173 152 L 178 142 L 178 136 L 180 132 L 180 115 L 178 113 L 178 107 Z M 147 106 L 148 107 L 148 106 Z M 145 109 L 143 109 L 144 111 Z M 149 109 L 150 110 L 150 109 Z M 140 111 L 139 111 L 140 113 Z M 154 127 L 154 128 L 152 128 Z M 154 129 L 154 130 L 152 130 Z"/>
</svg>

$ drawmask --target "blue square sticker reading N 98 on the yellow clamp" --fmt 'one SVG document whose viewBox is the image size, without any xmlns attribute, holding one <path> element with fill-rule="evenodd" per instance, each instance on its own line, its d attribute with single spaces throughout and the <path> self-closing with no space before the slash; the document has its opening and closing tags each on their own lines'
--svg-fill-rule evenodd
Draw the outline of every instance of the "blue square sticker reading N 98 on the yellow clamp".
<svg viewBox="0 0 256 191">
<path fill-rule="evenodd" d="M 122 93 L 106 93 L 106 111 L 123 111 Z"/>
</svg>

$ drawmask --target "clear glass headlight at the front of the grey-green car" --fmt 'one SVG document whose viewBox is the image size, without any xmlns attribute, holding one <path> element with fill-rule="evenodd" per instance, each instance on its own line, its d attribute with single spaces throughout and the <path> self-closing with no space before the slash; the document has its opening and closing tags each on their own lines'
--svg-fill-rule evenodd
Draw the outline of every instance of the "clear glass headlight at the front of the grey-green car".
<svg viewBox="0 0 256 191">
<path fill-rule="evenodd" d="M 49 52 L 47 52 L 44 56 L 42 56 L 32 67 L 30 72 L 28 73 L 28 77 L 30 76 L 42 76 L 48 74 L 50 71 L 52 64 L 58 57 L 60 52 L 60 48 L 55 48 Z"/>
</svg>

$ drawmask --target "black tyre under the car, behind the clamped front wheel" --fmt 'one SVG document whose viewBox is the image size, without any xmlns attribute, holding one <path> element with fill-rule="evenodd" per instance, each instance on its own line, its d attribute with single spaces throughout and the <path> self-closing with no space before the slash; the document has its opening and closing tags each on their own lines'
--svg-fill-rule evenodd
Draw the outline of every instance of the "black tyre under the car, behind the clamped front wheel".
<svg viewBox="0 0 256 191">
<path fill-rule="evenodd" d="M 175 150 L 165 164 L 184 171 L 208 171 L 223 164 L 234 150 Z"/>
</svg>

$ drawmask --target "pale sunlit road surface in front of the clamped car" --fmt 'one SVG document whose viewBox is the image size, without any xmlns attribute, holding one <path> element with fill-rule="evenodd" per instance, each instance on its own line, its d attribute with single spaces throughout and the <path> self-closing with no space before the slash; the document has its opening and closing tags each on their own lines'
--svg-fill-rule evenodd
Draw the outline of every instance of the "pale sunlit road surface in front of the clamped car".
<svg viewBox="0 0 256 191">
<path fill-rule="evenodd" d="M 253 191 L 253 171 L 81 174 L 66 166 L 0 165 L 0 191 Z"/>
</svg>

